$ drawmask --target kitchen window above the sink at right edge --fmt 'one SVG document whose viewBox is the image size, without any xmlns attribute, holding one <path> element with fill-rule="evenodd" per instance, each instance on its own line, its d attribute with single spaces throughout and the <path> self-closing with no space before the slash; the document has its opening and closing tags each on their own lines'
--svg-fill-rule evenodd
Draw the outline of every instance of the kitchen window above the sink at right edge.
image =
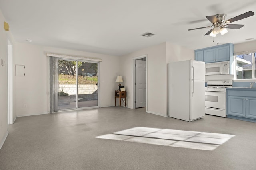
<svg viewBox="0 0 256 170">
<path fill-rule="evenodd" d="M 235 74 L 234 79 L 255 78 L 255 59 L 256 53 L 244 53 L 235 55 Z"/>
</svg>

